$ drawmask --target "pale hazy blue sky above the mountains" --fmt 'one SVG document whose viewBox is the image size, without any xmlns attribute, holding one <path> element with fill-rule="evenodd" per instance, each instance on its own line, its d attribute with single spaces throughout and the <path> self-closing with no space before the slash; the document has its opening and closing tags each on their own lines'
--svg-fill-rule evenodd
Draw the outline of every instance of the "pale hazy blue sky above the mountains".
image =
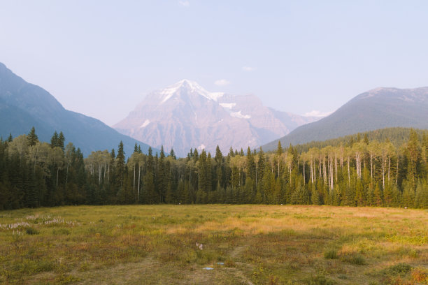
<svg viewBox="0 0 428 285">
<path fill-rule="evenodd" d="M 0 0 L 0 62 L 109 125 L 183 78 L 327 112 L 428 85 L 428 1 Z"/>
</svg>

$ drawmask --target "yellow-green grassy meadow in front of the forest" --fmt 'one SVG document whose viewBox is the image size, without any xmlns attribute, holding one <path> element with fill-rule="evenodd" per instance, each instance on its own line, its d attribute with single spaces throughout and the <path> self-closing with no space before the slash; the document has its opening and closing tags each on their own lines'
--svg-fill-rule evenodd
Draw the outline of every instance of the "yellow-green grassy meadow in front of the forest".
<svg viewBox="0 0 428 285">
<path fill-rule="evenodd" d="M 0 284 L 428 284 L 427 210 L 76 206 L 0 224 Z"/>
</svg>

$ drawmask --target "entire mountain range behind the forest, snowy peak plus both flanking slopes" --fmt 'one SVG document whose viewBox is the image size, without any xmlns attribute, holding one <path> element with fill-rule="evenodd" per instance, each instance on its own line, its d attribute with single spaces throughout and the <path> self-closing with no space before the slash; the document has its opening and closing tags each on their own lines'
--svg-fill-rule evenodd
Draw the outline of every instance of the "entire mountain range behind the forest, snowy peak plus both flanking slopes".
<svg viewBox="0 0 428 285">
<path fill-rule="evenodd" d="M 64 107 L 47 91 L 25 82 L 0 63 L 0 136 L 19 136 L 32 126 L 40 140 L 62 131 L 85 155 L 117 148 L 124 142 L 130 155 L 134 145 L 185 156 L 190 148 L 222 152 L 262 145 L 283 146 L 329 140 L 388 127 L 428 129 L 428 87 L 376 88 L 359 94 L 328 117 L 305 117 L 267 108 L 254 95 L 208 92 L 190 80 L 181 80 L 145 96 L 134 111 L 112 129 L 98 119 Z M 119 133 L 119 132 L 120 133 Z M 145 143 L 144 143 L 145 142 Z"/>
</svg>

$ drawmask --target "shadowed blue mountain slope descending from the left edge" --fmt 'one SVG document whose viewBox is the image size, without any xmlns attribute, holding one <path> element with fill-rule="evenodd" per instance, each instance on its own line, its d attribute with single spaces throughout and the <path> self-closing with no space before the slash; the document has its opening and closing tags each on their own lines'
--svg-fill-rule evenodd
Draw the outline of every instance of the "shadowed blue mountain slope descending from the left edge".
<svg viewBox="0 0 428 285">
<path fill-rule="evenodd" d="M 66 142 L 73 142 L 87 156 L 95 150 L 117 149 L 120 140 L 127 155 L 134 152 L 134 145 L 145 143 L 124 136 L 103 122 L 72 112 L 64 107 L 45 89 L 25 82 L 4 64 L 0 63 L 0 136 L 9 133 L 19 136 L 35 127 L 39 140 L 50 141 L 52 134 L 62 131 Z M 155 149 L 156 150 L 156 149 Z"/>
</svg>

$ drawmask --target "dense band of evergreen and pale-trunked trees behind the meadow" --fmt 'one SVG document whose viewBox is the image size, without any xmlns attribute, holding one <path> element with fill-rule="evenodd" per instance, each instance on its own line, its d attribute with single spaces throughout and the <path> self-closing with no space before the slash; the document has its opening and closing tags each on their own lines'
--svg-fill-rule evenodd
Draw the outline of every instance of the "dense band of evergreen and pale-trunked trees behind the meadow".
<svg viewBox="0 0 428 285">
<path fill-rule="evenodd" d="M 0 210 L 76 204 L 266 203 L 428 208 L 428 133 L 408 129 L 348 136 L 265 153 L 190 149 L 159 154 L 92 152 L 63 133 L 0 140 Z M 385 136 L 387 133 L 387 136 Z"/>
</svg>

